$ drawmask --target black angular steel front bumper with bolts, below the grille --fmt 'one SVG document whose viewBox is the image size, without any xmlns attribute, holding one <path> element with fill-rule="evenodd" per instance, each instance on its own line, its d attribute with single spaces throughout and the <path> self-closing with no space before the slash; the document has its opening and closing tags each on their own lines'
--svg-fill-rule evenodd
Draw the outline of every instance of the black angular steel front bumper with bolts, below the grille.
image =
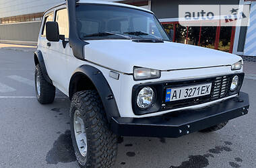
<svg viewBox="0 0 256 168">
<path fill-rule="evenodd" d="M 120 136 L 153 136 L 177 138 L 248 114 L 249 95 L 215 103 L 197 110 L 170 112 L 150 118 L 112 118 L 110 125 Z"/>
</svg>

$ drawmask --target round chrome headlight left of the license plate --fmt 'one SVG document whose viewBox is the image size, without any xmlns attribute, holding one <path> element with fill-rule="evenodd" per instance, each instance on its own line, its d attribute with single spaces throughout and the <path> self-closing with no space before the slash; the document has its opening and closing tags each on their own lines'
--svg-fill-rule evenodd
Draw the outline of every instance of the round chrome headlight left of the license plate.
<svg viewBox="0 0 256 168">
<path fill-rule="evenodd" d="M 137 106 L 139 108 L 149 108 L 154 103 L 155 93 L 151 87 L 143 87 L 137 96 Z"/>
</svg>

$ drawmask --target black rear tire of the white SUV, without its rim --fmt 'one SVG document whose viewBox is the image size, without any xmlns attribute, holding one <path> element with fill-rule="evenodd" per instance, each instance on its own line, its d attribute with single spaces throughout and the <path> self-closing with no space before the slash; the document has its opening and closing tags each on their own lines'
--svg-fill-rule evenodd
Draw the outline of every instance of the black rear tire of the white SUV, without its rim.
<svg viewBox="0 0 256 168">
<path fill-rule="evenodd" d="M 37 86 L 36 86 L 36 76 L 39 74 L 40 81 L 40 94 L 38 94 Z M 40 69 L 40 65 L 36 65 L 35 73 L 34 73 L 34 85 L 36 90 L 36 97 L 39 103 L 41 104 L 49 104 L 53 103 L 55 99 L 55 86 L 44 79 L 44 75 L 42 75 L 42 70 Z"/>
</svg>

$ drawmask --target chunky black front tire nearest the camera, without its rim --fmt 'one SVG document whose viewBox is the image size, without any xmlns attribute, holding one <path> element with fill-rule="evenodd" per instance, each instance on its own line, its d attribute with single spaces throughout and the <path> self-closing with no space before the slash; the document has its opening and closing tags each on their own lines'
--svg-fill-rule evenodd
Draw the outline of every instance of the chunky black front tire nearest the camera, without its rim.
<svg viewBox="0 0 256 168">
<path fill-rule="evenodd" d="M 75 140 L 73 117 L 78 110 L 84 121 L 87 155 L 79 152 Z M 80 167 L 113 167 L 117 157 L 117 136 L 109 129 L 106 113 L 97 91 L 80 91 L 73 95 L 70 107 L 71 138 Z"/>
</svg>

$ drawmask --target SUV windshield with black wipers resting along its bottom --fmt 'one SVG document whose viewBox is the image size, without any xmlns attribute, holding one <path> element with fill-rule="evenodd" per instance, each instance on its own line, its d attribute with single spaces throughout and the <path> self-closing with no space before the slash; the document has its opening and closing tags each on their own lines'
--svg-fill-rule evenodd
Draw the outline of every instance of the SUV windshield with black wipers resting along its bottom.
<svg viewBox="0 0 256 168">
<path fill-rule="evenodd" d="M 155 15 L 113 5 L 77 5 L 77 32 L 82 40 L 170 40 Z"/>
</svg>

